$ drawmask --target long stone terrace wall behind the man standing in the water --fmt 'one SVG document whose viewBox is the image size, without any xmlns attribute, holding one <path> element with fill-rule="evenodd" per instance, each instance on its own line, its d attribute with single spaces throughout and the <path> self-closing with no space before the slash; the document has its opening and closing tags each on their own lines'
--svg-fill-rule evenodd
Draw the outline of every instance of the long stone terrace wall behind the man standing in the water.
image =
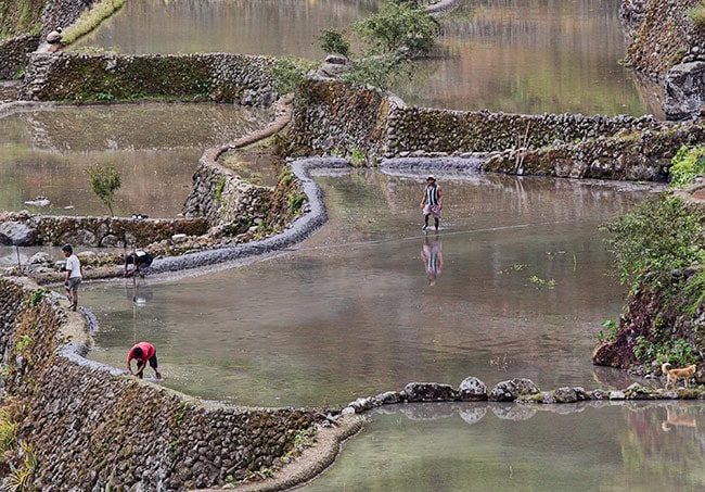
<svg viewBox="0 0 705 492">
<path fill-rule="evenodd" d="M 681 144 L 705 141 L 696 123 L 406 106 L 334 80 L 309 81 L 292 131 L 312 153 L 361 150 L 372 161 L 483 153 L 489 156 L 484 171 L 621 180 L 664 180 Z"/>
</svg>

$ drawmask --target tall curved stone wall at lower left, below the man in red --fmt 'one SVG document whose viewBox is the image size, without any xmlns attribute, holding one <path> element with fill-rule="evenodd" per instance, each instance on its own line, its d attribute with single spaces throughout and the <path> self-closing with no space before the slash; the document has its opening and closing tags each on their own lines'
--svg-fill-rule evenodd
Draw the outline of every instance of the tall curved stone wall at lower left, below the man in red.
<svg viewBox="0 0 705 492">
<path fill-rule="evenodd" d="M 54 490 L 185 490 L 271 467 L 315 411 L 205 405 L 81 357 L 79 314 L 0 278 L 3 393 L 30 404 L 22 434 Z M 41 293 L 41 291 L 39 291 Z M 69 339 L 67 335 L 73 335 Z M 17 351 L 22 336 L 33 342 Z M 72 340 L 74 343 L 72 343 Z"/>
</svg>

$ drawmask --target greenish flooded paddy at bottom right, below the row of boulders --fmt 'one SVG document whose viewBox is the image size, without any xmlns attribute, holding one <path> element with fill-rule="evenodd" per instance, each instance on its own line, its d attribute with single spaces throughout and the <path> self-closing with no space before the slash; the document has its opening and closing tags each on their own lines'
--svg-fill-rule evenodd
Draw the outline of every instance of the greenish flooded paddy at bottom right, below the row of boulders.
<svg viewBox="0 0 705 492">
<path fill-rule="evenodd" d="M 688 424 L 665 433 L 664 419 L 676 414 Z M 427 403 L 383 407 L 370 416 L 335 466 L 302 490 L 705 487 L 702 403 Z"/>
</svg>

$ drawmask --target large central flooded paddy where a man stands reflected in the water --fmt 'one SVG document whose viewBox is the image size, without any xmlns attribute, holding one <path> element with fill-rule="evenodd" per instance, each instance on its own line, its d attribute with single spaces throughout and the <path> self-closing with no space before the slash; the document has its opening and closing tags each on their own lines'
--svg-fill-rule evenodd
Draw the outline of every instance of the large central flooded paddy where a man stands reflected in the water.
<svg viewBox="0 0 705 492">
<path fill-rule="evenodd" d="M 172 282 L 86 286 L 101 324 L 90 356 L 121 367 L 150 340 L 166 386 L 245 405 L 341 405 L 467 376 L 620 386 L 589 362 L 625 295 L 598 227 L 648 193 L 440 179 L 437 236 L 421 232 L 421 180 L 355 172 L 317 178 L 331 222 L 295 251 Z"/>
</svg>

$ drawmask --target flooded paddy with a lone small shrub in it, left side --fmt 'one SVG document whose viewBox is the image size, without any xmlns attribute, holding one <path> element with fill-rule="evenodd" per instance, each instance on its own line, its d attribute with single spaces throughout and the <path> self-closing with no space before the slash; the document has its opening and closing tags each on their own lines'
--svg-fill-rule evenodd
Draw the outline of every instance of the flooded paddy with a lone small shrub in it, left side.
<svg viewBox="0 0 705 492">
<path fill-rule="evenodd" d="M 87 167 L 121 175 L 114 212 L 175 217 L 203 150 L 267 125 L 271 112 L 216 104 L 66 106 L 0 119 L 0 210 L 103 215 Z M 27 204 L 38 195 L 50 204 Z"/>
</svg>

